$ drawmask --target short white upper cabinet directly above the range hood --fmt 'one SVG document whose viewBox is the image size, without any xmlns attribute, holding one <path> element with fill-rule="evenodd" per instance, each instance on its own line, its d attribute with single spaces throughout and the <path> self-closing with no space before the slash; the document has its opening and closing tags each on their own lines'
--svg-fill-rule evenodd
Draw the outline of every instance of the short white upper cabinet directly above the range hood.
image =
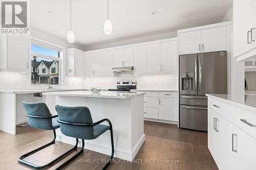
<svg viewBox="0 0 256 170">
<path fill-rule="evenodd" d="M 133 66 L 133 47 L 114 50 L 114 67 Z"/>
</svg>

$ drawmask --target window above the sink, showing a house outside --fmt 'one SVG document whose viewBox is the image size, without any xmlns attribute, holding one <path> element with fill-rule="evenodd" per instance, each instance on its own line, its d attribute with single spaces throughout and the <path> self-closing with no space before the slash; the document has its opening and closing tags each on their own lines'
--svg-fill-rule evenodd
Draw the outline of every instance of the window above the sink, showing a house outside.
<svg viewBox="0 0 256 170">
<path fill-rule="evenodd" d="M 31 84 L 48 84 L 52 77 L 59 84 L 59 65 L 61 64 L 62 51 L 60 48 L 32 40 L 31 43 Z M 37 72 L 36 72 L 37 70 Z"/>
</svg>

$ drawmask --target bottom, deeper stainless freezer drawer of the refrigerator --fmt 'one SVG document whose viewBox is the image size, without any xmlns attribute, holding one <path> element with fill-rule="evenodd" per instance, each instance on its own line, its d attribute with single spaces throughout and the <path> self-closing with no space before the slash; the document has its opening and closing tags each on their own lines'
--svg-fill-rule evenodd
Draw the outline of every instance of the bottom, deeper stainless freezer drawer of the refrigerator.
<svg viewBox="0 0 256 170">
<path fill-rule="evenodd" d="M 207 131 L 207 107 L 180 105 L 180 127 Z"/>
</svg>

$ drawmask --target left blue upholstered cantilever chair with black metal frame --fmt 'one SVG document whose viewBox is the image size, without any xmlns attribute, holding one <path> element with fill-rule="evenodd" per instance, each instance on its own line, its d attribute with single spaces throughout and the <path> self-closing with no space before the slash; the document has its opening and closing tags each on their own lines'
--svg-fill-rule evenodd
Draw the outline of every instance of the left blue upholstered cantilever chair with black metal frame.
<svg viewBox="0 0 256 170">
<path fill-rule="evenodd" d="M 19 157 L 19 159 L 18 159 L 19 163 L 25 164 L 25 165 L 30 166 L 30 167 L 35 168 L 35 169 L 46 168 L 48 166 L 51 166 L 53 163 L 57 162 L 59 159 L 65 157 L 66 155 L 68 155 L 69 153 L 71 153 L 72 151 L 74 151 L 77 148 L 78 140 L 77 140 L 76 145 L 75 145 L 74 148 L 72 148 L 71 150 L 69 150 L 65 154 L 62 154 L 61 156 L 59 156 L 58 158 L 54 159 L 53 161 L 51 161 L 50 163 L 48 163 L 46 165 L 38 166 L 34 163 L 31 163 L 31 162 L 28 162 L 28 161 L 24 160 L 24 158 L 34 154 L 35 152 L 38 152 L 38 151 L 48 147 L 49 145 L 54 144 L 55 139 L 56 139 L 55 129 L 59 128 L 60 125 L 57 122 L 58 115 L 53 116 L 50 113 L 50 111 L 49 111 L 49 109 L 48 109 L 48 107 L 45 103 L 22 102 L 22 104 L 25 107 L 25 110 L 27 112 L 26 116 L 28 117 L 29 125 L 33 128 L 37 128 L 37 129 L 53 130 L 54 138 L 50 143 L 47 143 L 47 144 L 43 145 L 42 147 L 37 148 L 37 149 Z"/>
</svg>

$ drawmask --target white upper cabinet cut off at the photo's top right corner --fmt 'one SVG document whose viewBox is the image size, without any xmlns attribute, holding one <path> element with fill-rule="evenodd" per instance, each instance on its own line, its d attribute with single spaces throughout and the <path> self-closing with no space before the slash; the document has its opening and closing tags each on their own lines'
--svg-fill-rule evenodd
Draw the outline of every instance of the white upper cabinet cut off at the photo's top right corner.
<svg viewBox="0 0 256 170">
<path fill-rule="evenodd" d="M 256 1 L 233 1 L 233 57 L 238 61 L 255 55 Z M 252 52 L 254 51 L 254 52 Z"/>
</svg>

